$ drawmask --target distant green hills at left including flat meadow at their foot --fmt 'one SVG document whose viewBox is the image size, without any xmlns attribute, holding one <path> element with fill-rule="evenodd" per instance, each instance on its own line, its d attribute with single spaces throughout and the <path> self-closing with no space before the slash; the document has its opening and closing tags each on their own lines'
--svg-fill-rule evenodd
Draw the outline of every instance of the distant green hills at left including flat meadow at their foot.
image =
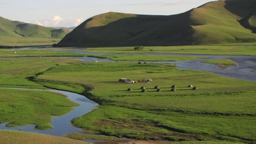
<svg viewBox="0 0 256 144">
<path fill-rule="evenodd" d="M 1 45 L 52 45 L 69 32 L 67 29 L 47 28 L 0 17 Z"/>
</svg>

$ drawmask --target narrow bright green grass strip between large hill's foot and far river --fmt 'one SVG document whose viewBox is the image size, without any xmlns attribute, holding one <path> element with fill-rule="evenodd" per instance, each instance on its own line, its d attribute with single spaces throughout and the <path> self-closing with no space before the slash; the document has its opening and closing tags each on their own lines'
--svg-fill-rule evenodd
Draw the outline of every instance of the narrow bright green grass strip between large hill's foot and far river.
<svg viewBox="0 0 256 144">
<path fill-rule="evenodd" d="M 217 55 L 246 55 L 255 56 L 255 43 L 227 44 L 227 45 L 182 45 L 182 46 L 145 46 L 141 51 L 134 51 L 134 47 L 87 47 L 86 52 L 112 53 L 166 53 L 166 54 L 217 54 Z"/>
</svg>

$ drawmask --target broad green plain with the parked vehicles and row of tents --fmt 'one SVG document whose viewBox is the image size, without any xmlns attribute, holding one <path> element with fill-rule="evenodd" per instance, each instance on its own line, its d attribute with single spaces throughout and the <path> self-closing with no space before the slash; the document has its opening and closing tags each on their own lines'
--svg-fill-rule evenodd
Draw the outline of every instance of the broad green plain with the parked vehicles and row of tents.
<svg viewBox="0 0 256 144">
<path fill-rule="evenodd" d="M 99 52 L 102 51 L 108 50 Z M 33 55 L 33 51 L 28 53 Z M 140 140 L 256 142 L 255 82 L 228 79 L 211 72 L 179 70 L 172 64 L 138 64 L 138 59 L 134 59 L 133 63 L 95 63 L 67 58 L 2 59 L 0 86 L 54 88 L 85 95 L 98 102 L 99 109 L 74 118 L 72 123 L 92 134 Z M 153 81 L 118 83 L 121 77 Z M 170 92 L 174 84 L 176 92 Z M 189 84 L 198 90 L 188 88 Z M 145 86 L 147 92 L 141 92 L 141 86 Z M 155 86 L 159 86 L 161 92 L 156 92 Z M 127 91 L 128 88 L 132 91 Z M 18 99 L 32 93 L 19 91 L 5 90 L 1 97 L 10 95 Z M 44 96 L 44 93 L 35 95 Z M 0 109 L 5 109 L 4 102 L 6 100 L 1 101 Z M 25 102 L 20 100 L 22 104 Z M 4 118 L 15 121 L 11 113 L 6 113 Z"/>
</svg>

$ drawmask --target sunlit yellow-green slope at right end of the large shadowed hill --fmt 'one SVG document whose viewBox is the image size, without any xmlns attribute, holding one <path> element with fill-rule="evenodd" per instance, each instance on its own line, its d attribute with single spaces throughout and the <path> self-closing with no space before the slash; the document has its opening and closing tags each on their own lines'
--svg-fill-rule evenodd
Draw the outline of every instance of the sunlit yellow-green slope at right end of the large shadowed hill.
<svg viewBox="0 0 256 144">
<path fill-rule="evenodd" d="M 252 3 L 252 1 L 247 1 Z M 244 2 L 245 3 L 245 2 Z M 235 42 L 253 42 L 255 34 L 239 22 L 244 17 L 252 17 L 256 4 L 246 5 L 236 1 L 215 1 L 192 10 L 191 26 L 195 29 L 193 44 L 223 44 Z M 234 7 L 235 5 L 235 7 Z M 236 10 L 236 12 L 233 12 Z M 244 13 L 239 16 L 239 13 Z"/>
</svg>

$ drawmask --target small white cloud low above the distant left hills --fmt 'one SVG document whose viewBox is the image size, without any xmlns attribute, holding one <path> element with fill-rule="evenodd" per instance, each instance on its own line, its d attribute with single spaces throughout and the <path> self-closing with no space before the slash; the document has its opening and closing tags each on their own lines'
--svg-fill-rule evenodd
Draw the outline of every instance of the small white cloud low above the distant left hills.
<svg viewBox="0 0 256 144">
<path fill-rule="evenodd" d="M 38 24 L 40 26 L 46 27 L 74 27 L 78 26 L 84 21 L 84 18 L 69 18 L 63 19 L 58 15 L 54 15 L 53 17 L 46 20 L 36 20 L 33 24 Z"/>
</svg>

